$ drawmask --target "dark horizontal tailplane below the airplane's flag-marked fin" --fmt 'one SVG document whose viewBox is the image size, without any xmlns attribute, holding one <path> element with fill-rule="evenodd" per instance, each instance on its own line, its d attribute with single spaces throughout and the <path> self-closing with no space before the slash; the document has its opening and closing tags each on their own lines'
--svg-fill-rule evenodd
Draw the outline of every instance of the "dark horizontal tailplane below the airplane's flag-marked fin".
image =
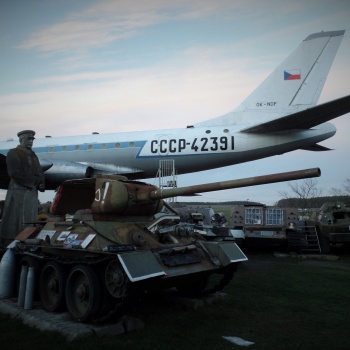
<svg viewBox="0 0 350 350">
<path fill-rule="evenodd" d="M 269 133 L 292 129 L 310 129 L 350 112 L 350 95 L 289 114 L 285 117 L 241 130 L 246 133 Z"/>
</svg>

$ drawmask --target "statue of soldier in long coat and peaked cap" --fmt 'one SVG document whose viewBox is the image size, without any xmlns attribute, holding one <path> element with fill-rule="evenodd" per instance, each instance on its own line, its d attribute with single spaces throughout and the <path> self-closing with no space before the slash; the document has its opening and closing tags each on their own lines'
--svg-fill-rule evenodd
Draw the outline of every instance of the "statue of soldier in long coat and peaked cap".
<svg viewBox="0 0 350 350">
<path fill-rule="evenodd" d="M 11 243 L 25 223 L 37 221 L 38 190 L 45 191 L 45 177 L 38 157 L 32 151 L 34 135 L 32 130 L 20 131 L 17 134 L 20 144 L 10 149 L 6 157 L 10 184 L 0 223 L 2 244 Z"/>
</svg>

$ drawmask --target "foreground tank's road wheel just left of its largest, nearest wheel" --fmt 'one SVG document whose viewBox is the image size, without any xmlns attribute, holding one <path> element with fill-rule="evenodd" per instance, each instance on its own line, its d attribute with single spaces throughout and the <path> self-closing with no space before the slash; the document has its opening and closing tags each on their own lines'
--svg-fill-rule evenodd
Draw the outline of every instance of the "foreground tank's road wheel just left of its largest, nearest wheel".
<svg viewBox="0 0 350 350">
<path fill-rule="evenodd" d="M 47 262 L 40 274 L 40 296 L 45 310 L 54 312 L 65 308 L 67 272 L 55 262 Z"/>
</svg>

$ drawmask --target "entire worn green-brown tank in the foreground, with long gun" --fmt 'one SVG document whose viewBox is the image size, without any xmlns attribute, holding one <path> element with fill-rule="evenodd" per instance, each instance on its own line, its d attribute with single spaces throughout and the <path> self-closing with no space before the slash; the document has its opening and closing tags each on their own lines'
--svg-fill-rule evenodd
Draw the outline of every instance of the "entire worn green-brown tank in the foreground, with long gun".
<svg viewBox="0 0 350 350">
<path fill-rule="evenodd" d="M 43 308 L 67 308 L 78 322 L 118 317 L 146 292 L 219 291 L 247 257 L 233 237 L 183 230 L 178 215 L 162 212 L 163 199 L 315 176 L 317 168 L 166 190 L 121 176 L 65 181 L 47 221 L 26 227 L 11 248 L 17 290 L 33 268 Z"/>
</svg>

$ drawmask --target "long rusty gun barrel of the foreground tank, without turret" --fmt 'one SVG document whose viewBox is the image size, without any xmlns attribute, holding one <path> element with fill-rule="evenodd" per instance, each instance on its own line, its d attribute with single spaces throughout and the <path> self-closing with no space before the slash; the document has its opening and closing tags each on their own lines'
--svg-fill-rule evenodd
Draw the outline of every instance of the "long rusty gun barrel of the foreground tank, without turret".
<svg viewBox="0 0 350 350">
<path fill-rule="evenodd" d="M 157 189 L 150 193 L 150 198 L 153 200 L 165 199 L 169 197 L 188 196 L 196 193 L 204 193 L 211 191 L 226 190 L 230 188 L 241 188 L 248 186 L 264 185 L 269 183 L 292 181 L 306 179 L 310 177 L 321 176 L 321 170 L 319 168 L 310 168 L 296 171 L 289 171 L 284 173 L 253 176 L 237 180 L 228 180 L 213 182 L 203 185 L 193 185 L 180 188 L 170 189 Z"/>
</svg>

